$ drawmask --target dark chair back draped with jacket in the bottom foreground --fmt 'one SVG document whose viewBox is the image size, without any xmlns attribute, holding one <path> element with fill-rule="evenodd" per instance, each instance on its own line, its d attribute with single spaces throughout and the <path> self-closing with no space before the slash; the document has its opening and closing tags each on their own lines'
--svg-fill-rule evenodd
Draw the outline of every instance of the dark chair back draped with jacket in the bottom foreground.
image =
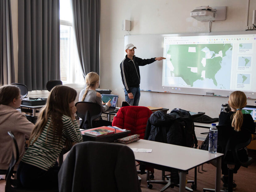
<svg viewBox="0 0 256 192">
<path fill-rule="evenodd" d="M 74 145 L 58 179 L 62 192 L 141 191 L 134 153 L 121 144 L 88 141 Z"/>
</svg>

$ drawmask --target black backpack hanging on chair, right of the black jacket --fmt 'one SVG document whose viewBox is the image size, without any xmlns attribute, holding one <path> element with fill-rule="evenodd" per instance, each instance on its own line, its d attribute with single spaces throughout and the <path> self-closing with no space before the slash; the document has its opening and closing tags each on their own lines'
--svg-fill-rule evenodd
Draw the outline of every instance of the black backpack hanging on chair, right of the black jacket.
<svg viewBox="0 0 256 192">
<path fill-rule="evenodd" d="M 180 139 L 178 136 L 179 134 L 172 134 L 172 144 L 197 148 L 195 127 L 190 113 L 186 110 L 175 108 L 169 115 L 175 116 L 175 119 L 171 124 L 171 129 L 182 131 L 182 137 Z"/>
</svg>

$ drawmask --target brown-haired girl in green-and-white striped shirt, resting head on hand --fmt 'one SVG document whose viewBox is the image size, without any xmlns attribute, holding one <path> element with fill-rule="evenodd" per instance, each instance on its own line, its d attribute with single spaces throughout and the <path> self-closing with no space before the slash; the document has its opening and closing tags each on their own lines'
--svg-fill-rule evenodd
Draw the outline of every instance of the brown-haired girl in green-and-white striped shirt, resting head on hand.
<svg viewBox="0 0 256 192">
<path fill-rule="evenodd" d="M 38 190 L 58 188 L 60 167 L 56 160 L 65 142 L 83 141 L 74 115 L 76 95 L 75 89 L 64 85 L 57 85 L 50 92 L 17 170 L 21 186 Z"/>
</svg>

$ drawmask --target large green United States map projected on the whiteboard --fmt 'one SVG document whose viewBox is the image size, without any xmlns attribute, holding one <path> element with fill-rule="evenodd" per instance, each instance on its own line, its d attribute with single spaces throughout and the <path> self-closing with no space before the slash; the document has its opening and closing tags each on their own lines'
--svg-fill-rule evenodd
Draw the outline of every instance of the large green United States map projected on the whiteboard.
<svg viewBox="0 0 256 192">
<path fill-rule="evenodd" d="M 166 61 L 167 65 L 165 66 L 165 76 L 167 79 L 168 76 L 170 78 L 181 77 L 187 84 L 184 86 L 229 88 L 230 75 L 225 73 L 225 70 L 231 70 L 231 59 L 224 61 L 224 58 L 227 51 L 229 51 L 229 54 L 232 54 L 232 44 L 183 44 L 166 46 L 168 46 L 166 49 L 167 59 L 168 55 L 170 55 L 170 61 Z M 225 69 L 223 69 L 223 75 L 221 75 L 220 70 L 223 68 L 223 62 L 225 62 Z M 170 67 L 170 65 L 172 66 Z M 220 73 L 219 76 L 217 76 L 218 72 Z M 168 85 L 168 80 L 165 80 L 165 84 Z"/>
</svg>

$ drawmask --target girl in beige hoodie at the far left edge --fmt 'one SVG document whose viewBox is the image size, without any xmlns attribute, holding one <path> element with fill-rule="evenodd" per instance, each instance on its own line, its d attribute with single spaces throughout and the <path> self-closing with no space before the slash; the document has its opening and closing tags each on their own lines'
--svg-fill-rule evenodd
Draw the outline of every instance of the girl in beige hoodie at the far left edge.
<svg viewBox="0 0 256 192">
<path fill-rule="evenodd" d="M 25 137 L 29 138 L 35 127 L 25 115 L 17 110 L 21 100 L 22 96 L 18 87 L 7 85 L 0 88 L 0 154 L 2 154 L 0 155 L 0 170 L 7 170 L 11 161 L 12 140 L 8 131 L 12 131 L 16 138 L 19 158 L 21 158 L 25 153 Z"/>
</svg>

